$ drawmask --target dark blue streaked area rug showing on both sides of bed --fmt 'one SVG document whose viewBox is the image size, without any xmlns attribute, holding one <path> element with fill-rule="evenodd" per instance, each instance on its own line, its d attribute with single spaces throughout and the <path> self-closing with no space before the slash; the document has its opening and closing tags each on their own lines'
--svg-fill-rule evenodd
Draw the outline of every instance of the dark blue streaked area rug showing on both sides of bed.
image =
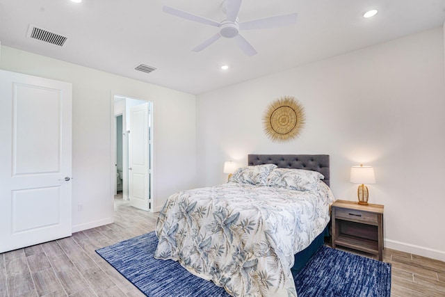
<svg viewBox="0 0 445 297">
<path fill-rule="evenodd" d="M 149 297 L 229 296 L 178 262 L 154 259 L 157 244 L 150 232 L 96 252 Z M 298 297 L 389 297 L 391 265 L 322 246 L 294 280 Z"/>
</svg>

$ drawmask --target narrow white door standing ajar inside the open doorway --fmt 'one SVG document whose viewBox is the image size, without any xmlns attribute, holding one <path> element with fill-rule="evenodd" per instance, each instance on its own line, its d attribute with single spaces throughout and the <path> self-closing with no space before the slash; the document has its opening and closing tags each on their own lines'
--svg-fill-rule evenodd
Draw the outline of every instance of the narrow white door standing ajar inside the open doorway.
<svg viewBox="0 0 445 297">
<path fill-rule="evenodd" d="M 129 200 L 133 207 L 149 210 L 149 104 L 130 108 Z"/>
</svg>

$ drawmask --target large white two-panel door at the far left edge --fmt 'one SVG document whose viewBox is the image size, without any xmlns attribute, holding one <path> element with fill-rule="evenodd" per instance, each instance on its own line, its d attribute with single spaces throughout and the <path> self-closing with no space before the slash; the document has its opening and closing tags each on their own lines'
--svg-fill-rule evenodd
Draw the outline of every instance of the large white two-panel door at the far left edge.
<svg viewBox="0 0 445 297">
<path fill-rule="evenodd" d="M 72 85 L 0 70 L 0 252 L 71 235 Z"/>
</svg>

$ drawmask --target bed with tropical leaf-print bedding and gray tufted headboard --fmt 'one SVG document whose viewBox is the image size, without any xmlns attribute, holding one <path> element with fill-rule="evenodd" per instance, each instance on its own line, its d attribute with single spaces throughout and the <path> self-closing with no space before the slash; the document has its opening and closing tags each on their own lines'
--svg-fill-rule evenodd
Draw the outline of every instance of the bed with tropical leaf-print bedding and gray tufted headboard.
<svg viewBox="0 0 445 297">
<path fill-rule="evenodd" d="M 250 154 L 248 165 L 227 184 L 171 195 L 155 257 L 232 296 L 297 296 L 292 269 L 323 244 L 330 220 L 329 156 Z"/>
</svg>

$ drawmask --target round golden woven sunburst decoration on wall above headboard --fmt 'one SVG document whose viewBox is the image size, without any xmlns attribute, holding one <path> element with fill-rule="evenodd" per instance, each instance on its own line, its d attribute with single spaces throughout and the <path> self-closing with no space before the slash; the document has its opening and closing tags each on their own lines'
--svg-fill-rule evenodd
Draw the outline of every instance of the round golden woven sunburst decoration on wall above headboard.
<svg viewBox="0 0 445 297">
<path fill-rule="evenodd" d="M 272 141 L 289 141 L 305 126 L 305 108 L 294 97 L 281 97 L 270 103 L 263 116 L 264 133 Z"/>
</svg>

